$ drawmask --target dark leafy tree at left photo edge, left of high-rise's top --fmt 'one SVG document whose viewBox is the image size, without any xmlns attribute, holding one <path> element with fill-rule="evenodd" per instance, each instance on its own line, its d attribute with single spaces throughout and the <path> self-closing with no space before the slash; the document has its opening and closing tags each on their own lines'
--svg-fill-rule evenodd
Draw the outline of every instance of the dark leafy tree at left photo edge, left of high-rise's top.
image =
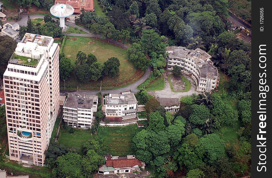
<svg viewBox="0 0 272 178">
<path fill-rule="evenodd" d="M 0 74 L 3 76 L 5 70 L 7 69 L 7 64 L 12 56 L 15 48 L 17 46 L 17 42 L 9 36 L 0 36 Z"/>
</svg>

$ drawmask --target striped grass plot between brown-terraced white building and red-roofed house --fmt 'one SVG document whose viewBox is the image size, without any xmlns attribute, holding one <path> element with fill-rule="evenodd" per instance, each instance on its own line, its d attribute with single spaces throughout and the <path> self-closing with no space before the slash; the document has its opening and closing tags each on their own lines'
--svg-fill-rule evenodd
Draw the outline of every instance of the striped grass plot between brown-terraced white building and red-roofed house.
<svg viewBox="0 0 272 178">
<path fill-rule="evenodd" d="M 108 152 L 113 156 L 134 155 L 131 148 L 132 138 L 141 131 L 136 124 L 122 127 L 99 127 L 98 136 L 108 146 Z"/>
</svg>

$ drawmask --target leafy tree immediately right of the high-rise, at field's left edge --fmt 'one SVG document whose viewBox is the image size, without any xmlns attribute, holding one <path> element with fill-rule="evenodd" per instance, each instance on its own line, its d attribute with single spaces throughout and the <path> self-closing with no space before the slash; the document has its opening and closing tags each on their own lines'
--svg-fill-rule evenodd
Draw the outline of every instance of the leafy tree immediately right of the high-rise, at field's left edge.
<svg viewBox="0 0 272 178">
<path fill-rule="evenodd" d="M 73 70 L 73 65 L 69 58 L 63 57 L 59 63 L 60 66 L 60 78 L 61 80 L 67 80 Z"/>
</svg>

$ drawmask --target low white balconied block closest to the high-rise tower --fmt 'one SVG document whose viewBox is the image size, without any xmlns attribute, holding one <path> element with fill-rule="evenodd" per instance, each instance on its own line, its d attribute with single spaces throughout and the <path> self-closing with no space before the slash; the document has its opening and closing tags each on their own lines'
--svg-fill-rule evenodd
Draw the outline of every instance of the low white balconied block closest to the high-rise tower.
<svg viewBox="0 0 272 178">
<path fill-rule="evenodd" d="M 98 96 L 69 93 L 63 105 L 63 120 L 71 127 L 91 128 Z"/>
</svg>

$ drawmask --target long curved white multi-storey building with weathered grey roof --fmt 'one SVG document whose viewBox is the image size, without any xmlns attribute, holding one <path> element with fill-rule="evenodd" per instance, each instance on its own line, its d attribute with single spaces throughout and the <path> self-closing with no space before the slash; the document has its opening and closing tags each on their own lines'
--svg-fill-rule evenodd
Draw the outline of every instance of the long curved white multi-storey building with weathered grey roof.
<svg viewBox="0 0 272 178">
<path fill-rule="evenodd" d="M 211 55 L 199 48 L 189 50 L 180 46 L 166 47 L 166 52 L 167 69 L 173 70 L 174 66 L 179 66 L 182 73 L 193 78 L 198 86 L 197 91 L 210 92 L 218 87 L 220 77 L 210 59 Z"/>
</svg>

